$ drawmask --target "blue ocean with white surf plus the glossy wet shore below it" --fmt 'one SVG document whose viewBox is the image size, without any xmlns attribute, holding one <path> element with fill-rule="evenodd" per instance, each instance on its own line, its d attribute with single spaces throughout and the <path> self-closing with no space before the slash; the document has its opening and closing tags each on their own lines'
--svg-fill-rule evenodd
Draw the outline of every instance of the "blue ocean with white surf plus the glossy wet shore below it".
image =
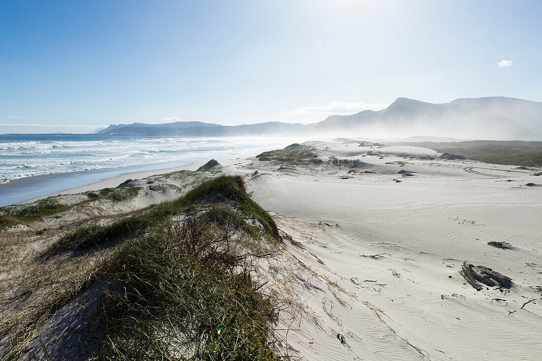
<svg viewBox="0 0 542 361">
<path fill-rule="evenodd" d="M 253 156 L 284 147 L 294 140 L 0 134 L 0 207 L 124 173 L 183 166 L 212 158 Z"/>
</svg>

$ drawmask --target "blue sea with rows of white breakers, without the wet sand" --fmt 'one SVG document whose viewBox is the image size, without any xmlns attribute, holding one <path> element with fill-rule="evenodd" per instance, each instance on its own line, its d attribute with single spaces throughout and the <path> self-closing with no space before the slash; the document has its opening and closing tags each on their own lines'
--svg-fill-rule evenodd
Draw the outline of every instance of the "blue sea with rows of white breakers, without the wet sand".
<svg viewBox="0 0 542 361">
<path fill-rule="evenodd" d="M 295 140 L 1 134 L 0 183 L 53 173 L 233 157 L 276 149 Z"/>
</svg>

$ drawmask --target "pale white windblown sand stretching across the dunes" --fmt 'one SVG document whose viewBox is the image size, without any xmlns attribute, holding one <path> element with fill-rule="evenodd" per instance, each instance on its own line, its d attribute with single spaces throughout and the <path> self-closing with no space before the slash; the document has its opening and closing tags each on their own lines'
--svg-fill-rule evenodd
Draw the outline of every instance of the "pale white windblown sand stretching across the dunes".
<svg viewBox="0 0 542 361">
<path fill-rule="evenodd" d="M 310 149 L 318 162 L 220 159 L 216 173 L 241 175 L 279 227 L 284 247 L 262 265 L 260 282 L 264 293 L 284 300 L 276 328 L 290 353 L 306 360 L 539 356 L 540 170 L 349 140 L 294 148 Z M 141 209 L 190 189 L 159 174 L 204 163 L 130 173 L 60 198 L 76 203 L 122 183 L 143 187 L 122 205 Z M 152 188 L 158 183 L 170 188 Z M 121 206 L 101 207 L 114 214 Z M 63 222 L 77 217 L 73 211 Z M 44 219 L 39 227 L 60 222 Z M 470 284 L 463 262 L 491 268 L 511 286 Z"/>
</svg>

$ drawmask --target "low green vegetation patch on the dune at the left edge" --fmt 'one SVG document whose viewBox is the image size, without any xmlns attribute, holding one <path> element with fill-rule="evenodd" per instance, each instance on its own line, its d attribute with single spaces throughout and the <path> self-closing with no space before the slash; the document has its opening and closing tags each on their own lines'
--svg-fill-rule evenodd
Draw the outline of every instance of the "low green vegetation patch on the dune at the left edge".
<svg viewBox="0 0 542 361">
<path fill-rule="evenodd" d="M 68 208 L 67 204 L 60 203 L 54 198 L 41 199 L 30 204 L 8 205 L 0 208 L 0 212 L 3 213 L 0 215 L 0 230 L 12 225 L 36 221 Z"/>
</svg>

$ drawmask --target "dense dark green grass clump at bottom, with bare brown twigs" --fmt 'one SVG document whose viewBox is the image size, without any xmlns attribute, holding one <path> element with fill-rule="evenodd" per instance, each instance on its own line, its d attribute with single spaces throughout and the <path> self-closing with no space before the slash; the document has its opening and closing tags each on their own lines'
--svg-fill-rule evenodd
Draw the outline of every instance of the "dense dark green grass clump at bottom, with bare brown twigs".
<svg viewBox="0 0 542 361">
<path fill-rule="evenodd" d="M 101 295 L 100 359 L 279 360 L 269 343 L 276 312 L 250 262 L 212 245 L 196 251 L 187 235 L 136 241 L 107 262 L 104 277 L 122 286 Z"/>
</svg>

